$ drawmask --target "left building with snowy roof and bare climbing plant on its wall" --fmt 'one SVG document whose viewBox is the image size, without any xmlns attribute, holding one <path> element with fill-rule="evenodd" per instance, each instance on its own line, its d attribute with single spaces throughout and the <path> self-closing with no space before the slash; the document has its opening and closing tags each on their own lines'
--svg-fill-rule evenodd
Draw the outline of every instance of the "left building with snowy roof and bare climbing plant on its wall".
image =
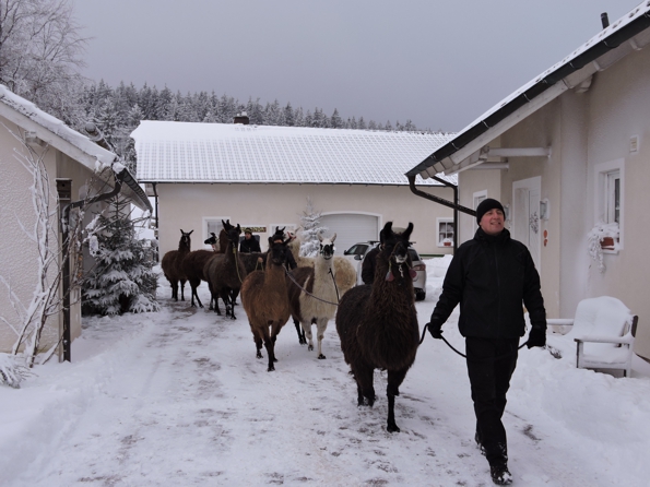
<svg viewBox="0 0 650 487">
<path fill-rule="evenodd" d="M 4 353 L 11 351 L 21 325 L 14 307 L 28 306 L 40 275 L 38 245 L 28 236 L 35 231 L 37 210 L 33 199 L 34 179 L 21 163 L 25 157 L 40 161 L 45 169 L 43 193 L 49 193 L 46 201 L 51 212 L 48 248 L 55 256 L 62 242 L 59 217 L 68 204 L 80 207 L 81 202 L 97 201 L 86 207 L 86 218 L 91 218 L 103 204 L 101 194 L 119 191 L 142 210 L 151 210 L 144 191 L 129 171 L 115 164 L 114 153 L 0 85 L 0 352 Z M 74 216 L 75 210 L 71 207 L 69 213 Z M 81 254 L 72 253 L 81 260 Z M 59 258 L 50 271 L 62 265 Z M 56 271 L 48 274 L 50 282 L 55 274 Z M 57 294 L 61 300 L 63 294 L 69 297 L 69 311 L 57 309 L 49 316 L 40 344 L 48 348 L 59 343 L 61 336 L 68 336 L 69 355 L 69 343 L 81 334 L 80 289 L 71 287 L 69 293 L 63 293 L 61 283 Z"/>
</svg>

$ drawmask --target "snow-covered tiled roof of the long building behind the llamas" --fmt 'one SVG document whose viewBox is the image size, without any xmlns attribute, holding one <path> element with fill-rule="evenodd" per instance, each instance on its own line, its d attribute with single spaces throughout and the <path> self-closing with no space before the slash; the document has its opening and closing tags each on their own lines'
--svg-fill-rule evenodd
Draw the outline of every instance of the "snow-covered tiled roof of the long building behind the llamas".
<svg viewBox="0 0 650 487">
<path fill-rule="evenodd" d="M 131 136 L 141 182 L 407 185 L 453 134 L 144 120 Z"/>
</svg>

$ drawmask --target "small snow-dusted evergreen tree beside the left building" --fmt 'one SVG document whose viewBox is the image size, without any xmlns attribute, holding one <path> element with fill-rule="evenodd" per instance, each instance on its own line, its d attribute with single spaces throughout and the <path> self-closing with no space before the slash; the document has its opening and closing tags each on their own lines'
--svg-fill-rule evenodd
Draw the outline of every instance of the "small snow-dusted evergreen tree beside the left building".
<svg viewBox="0 0 650 487">
<path fill-rule="evenodd" d="M 82 309 L 88 314 L 157 311 L 157 276 L 135 236 L 129 203 L 116 198 L 88 226 L 88 247 L 96 265 L 82 285 Z"/>
</svg>

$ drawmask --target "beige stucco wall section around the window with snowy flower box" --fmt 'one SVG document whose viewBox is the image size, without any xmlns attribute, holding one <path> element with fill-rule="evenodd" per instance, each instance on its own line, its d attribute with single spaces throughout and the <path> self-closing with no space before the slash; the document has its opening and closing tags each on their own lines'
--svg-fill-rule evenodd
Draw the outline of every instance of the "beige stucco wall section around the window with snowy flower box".
<svg viewBox="0 0 650 487">
<path fill-rule="evenodd" d="M 589 296 L 610 295 L 639 314 L 635 352 L 650 358 L 650 299 L 646 282 L 650 274 L 647 224 L 650 209 L 650 48 L 635 51 L 611 69 L 598 73 L 589 95 L 588 194 L 590 225 L 594 215 L 594 168 L 624 161 L 624 248 L 606 254 L 606 271 L 592 265 Z M 630 138 L 639 136 L 638 153 L 630 152 Z"/>
</svg>

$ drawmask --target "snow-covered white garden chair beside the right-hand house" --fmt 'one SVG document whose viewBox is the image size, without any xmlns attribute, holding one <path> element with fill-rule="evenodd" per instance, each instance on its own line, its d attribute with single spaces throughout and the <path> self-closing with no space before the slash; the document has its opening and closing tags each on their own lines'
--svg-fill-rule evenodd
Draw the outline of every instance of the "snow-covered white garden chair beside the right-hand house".
<svg viewBox="0 0 650 487">
<path fill-rule="evenodd" d="M 576 342 L 576 367 L 623 370 L 624 377 L 630 377 L 637 321 L 638 317 L 616 298 L 583 299 L 572 320 L 546 320 L 548 325 L 571 325 L 565 335 L 551 334 L 548 348 L 554 355 L 567 354 L 572 348 L 572 338 Z"/>
</svg>

